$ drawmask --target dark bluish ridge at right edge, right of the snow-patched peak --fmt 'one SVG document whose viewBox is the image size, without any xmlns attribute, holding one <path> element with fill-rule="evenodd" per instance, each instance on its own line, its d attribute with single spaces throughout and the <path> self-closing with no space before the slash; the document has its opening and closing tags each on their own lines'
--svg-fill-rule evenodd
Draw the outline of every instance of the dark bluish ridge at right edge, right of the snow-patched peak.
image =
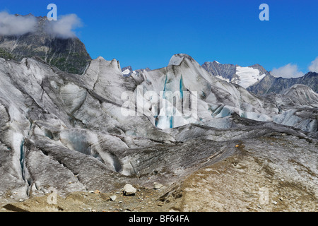
<svg viewBox="0 0 318 226">
<path fill-rule="evenodd" d="M 258 95 L 282 93 L 285 89 L 295 84 L 307 85 L 312 88 L 314 92 L 318 93 L 318 73 L 308 72 L 305 76 L 300 78 L 276 78 L 268 73 L 261 81 L 249 86 L 247 90 Z"/>
</svg>

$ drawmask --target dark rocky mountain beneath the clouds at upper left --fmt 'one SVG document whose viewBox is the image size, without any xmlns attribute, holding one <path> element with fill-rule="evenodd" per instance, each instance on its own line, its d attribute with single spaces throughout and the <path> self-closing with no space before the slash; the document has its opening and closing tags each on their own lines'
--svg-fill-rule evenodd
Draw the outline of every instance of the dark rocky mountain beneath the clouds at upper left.
<svg viewBox="0 0 318 226">
<path fill-rule="evenodd" d="M 61 71 L 81 74 L 91 61 L 86 47 L 77 37 L 62 39 L 45 30 L 46 17 L 37 18 L 35 32 L 19 36 L 0 36 L 0 56 L 20 61 L 40 57 Z"/>
</svg>

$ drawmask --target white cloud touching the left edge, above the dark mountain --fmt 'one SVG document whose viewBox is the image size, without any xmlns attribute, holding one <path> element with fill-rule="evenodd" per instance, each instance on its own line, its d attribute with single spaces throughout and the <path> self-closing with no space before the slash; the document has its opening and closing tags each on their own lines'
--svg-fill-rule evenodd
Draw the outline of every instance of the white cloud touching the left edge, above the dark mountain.
<svg viewBox="0 0 318 226">
<path fill-rule="evenodd" d="M 0 12 L 0 35 L 24 35 L 35 31 L 36 25 L 35 16 L 16 16 Z"/>
</svg>

